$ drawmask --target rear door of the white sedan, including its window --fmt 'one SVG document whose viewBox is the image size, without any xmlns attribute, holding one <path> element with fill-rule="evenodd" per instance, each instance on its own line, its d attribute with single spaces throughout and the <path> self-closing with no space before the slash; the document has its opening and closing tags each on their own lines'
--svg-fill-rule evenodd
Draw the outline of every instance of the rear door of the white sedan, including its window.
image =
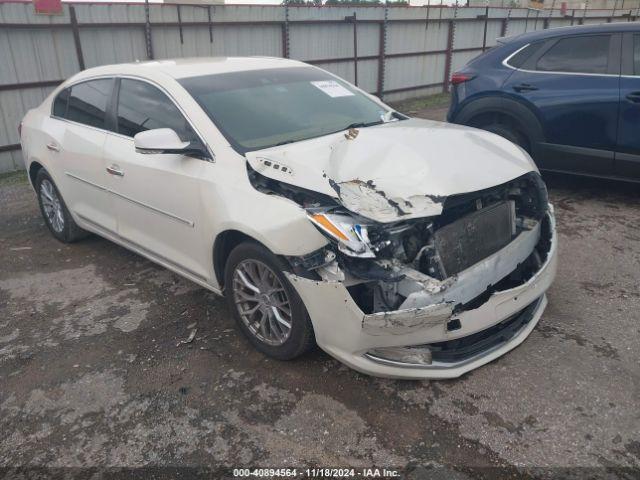
<svg viewBox="0 0 640 480">
<path fill-rule="evenodd" d="M 115 232 L 116 218 L 105 190 L 103 146 L 113 78 L 76 83 L 55 98 L 52 138 L 47 148 L 56 166 L 54 177 L 71 212 L 98 227 Z"/>
</svg>

